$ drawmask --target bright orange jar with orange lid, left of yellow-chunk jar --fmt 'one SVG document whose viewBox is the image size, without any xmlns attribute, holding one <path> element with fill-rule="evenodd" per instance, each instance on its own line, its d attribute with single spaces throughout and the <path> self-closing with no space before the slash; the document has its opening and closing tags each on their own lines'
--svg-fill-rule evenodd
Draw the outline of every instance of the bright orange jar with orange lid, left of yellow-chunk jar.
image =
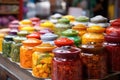
<svg viewBox="0 0 120 80">
<path fill-rule="evenodd" d="M 34 52 L 33 48 L 40 45 L 42 41 L 29 38 L 23 41 L 23 45 L 20 47 L 20 66 L 25 69 L 32 68 L 32 54 Z"/>
</svg>

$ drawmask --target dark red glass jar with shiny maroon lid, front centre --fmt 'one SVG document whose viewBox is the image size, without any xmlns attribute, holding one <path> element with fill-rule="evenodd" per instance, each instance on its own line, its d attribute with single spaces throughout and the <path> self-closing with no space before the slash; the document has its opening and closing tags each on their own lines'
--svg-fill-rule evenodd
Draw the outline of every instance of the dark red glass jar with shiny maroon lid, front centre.
<svg viewBox="0 0 120 80">
<path fill-rule="evenodd" d="M 52 80 L 83 80 L 80 49 L 62 46 L 53 50 Z"/>
</svg>

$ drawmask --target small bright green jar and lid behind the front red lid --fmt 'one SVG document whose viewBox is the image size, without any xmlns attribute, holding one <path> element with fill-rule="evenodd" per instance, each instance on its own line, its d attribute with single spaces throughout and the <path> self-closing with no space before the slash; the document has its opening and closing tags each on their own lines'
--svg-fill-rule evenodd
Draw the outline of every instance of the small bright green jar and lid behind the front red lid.
<svg viewBox="0 0 120 80">
<path fill-rule="evenodd" d="M 72 39 L 74 44 L 78 47 L 81 44 L 81 38 L 78 36 L 78 32 L 76 30 L 68 29 L 62 32 L 64 37 Z"/>
</svg>

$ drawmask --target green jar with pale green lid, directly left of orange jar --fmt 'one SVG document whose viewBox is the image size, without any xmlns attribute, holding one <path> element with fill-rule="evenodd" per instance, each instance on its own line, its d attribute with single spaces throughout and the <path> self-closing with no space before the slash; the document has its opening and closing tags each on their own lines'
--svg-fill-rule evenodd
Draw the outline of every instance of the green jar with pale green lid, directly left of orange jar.
<svg viewBox="0 0 120 80">
<path fill-rule="evenodd" d="M 25 37 L 15 37 L 13 38 L 14 42 L 11 45 L 10 58 L 14 62 L 20 62 L 20 47 L 22 46 L 22 41 L 26 40 Z"/>
</svg>

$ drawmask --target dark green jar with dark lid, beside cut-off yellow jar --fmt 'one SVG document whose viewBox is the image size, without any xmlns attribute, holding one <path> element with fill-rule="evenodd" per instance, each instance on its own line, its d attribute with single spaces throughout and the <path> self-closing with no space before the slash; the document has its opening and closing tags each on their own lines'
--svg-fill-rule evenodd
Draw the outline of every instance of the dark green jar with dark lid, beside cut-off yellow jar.
<svg viewBox="0 0 120 80">
<path fill-rule="evenodd" d="M 11 45 L 13 43 L 13 37 L 12 35 L 7 35 L 4 37 L 4 40 L 2 42 L 2 55 L 4 57 L 9 57 L 11 52 Z"/>
</svg>

